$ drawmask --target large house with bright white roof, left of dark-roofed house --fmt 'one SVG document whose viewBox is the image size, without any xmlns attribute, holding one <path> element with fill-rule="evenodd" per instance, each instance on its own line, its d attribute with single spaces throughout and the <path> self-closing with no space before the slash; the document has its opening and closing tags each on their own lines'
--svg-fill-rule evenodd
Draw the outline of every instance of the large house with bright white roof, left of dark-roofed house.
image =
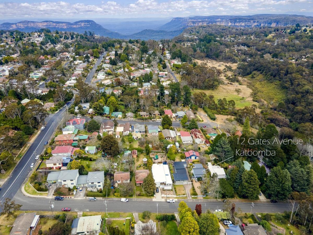
<svg viewBox="0 0 313 235">
<path fill-rule="evenodd" d="M 152 165 L 151 171 L 156 187 L 172 190 L 173 181 L 168 165 L 155 163 Z"/>
</svg>

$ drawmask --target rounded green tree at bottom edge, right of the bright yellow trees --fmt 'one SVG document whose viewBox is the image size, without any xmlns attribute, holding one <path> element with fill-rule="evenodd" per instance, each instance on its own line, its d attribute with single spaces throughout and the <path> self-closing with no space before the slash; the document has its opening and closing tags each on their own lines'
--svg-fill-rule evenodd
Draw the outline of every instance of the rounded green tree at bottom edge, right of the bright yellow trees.
<svg viewBox="0 0 313 235">
<path fill-rule="evenodd" d="M 197 222 L 200 235 L 219 235 L 219 223 L 216 215 L 212 213 L 203 213 Z"/>
</svg>

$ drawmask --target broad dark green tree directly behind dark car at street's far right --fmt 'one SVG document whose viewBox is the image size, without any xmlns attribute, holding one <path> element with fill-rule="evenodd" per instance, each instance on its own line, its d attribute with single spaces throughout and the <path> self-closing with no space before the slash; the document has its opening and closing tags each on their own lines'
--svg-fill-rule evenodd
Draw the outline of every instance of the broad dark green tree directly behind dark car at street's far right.
<svg viewBox="0 0 313 235">
<path fill-rule="evenodd" d="M 266 193 L 268 198 L 284 200 L 288 198 L 291 189 L 291 178 L 288 170 L 282 170 L 279 166 L 273 167 L 271 174 L 267 177 Z"/>
</svg>

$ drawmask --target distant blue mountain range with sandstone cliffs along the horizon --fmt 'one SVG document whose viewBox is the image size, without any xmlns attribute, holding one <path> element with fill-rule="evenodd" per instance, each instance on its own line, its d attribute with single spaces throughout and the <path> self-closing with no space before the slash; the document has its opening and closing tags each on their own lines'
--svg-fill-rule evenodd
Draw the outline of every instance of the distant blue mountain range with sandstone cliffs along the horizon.
<svg viewBox="0 0 313 235">
<path fill-rule="evenodd" d="M 301 15 L 287 15 L 287 14 L 259 14 L 251 16 L 230 16 L 230 15 L 213 15 L 213 16 L 194 16 L 194 17 L 176 17 L 170 22 L 159 26 L 151 23 L 151 28 L 145 29 L 133 34 L 131 31 L 126 31 L 125 34 L 113 32 L 105 29 L 100 24 L 93 20 L 80 20 L 74 23 L 62 21 L 20 21 L 17 23 L 3 23 L 0 24 L 0 30 L 20 30 L 25 32 L 32 32 L 42 28 L 48 28 L 52 31 L 74 31 L 77 33 L 84 33 L 85 31 L 95 32 L 95 34 L 110 38 L 118 39 L 172 39 L 173 37 L 182 33 L 183 29 L 198 25 L 220 24 L 235 27 L 260 27 L 260 26 L 288 26 L 312 24 L 313 17 Z M 147 25 L 148 27 L 148 25 Z M 140 27 L 139 27 L 140 28 Z M 149 27 L 150 28 L 150 27 Z M 112 29 L 112 28 L 111 28 Z M 142 29 L 142 28 L 141 28 Z M 120 31 L 121 32 L 121 31 Z"/>
</svg>

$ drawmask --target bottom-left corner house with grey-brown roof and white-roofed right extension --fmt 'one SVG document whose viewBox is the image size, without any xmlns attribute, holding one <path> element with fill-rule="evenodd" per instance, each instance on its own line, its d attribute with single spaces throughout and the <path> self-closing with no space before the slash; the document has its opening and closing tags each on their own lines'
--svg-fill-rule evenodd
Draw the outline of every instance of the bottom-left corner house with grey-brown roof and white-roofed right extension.
<svg viewBox="0 0 313 235">
<path fill-rule="evenodd" d="M 38 234 L 41 228 L 39 222 L 39 215 L 36 215 L 36 212 L 19 214 L 13 223 L 9 235 Z"/>
</svg>

